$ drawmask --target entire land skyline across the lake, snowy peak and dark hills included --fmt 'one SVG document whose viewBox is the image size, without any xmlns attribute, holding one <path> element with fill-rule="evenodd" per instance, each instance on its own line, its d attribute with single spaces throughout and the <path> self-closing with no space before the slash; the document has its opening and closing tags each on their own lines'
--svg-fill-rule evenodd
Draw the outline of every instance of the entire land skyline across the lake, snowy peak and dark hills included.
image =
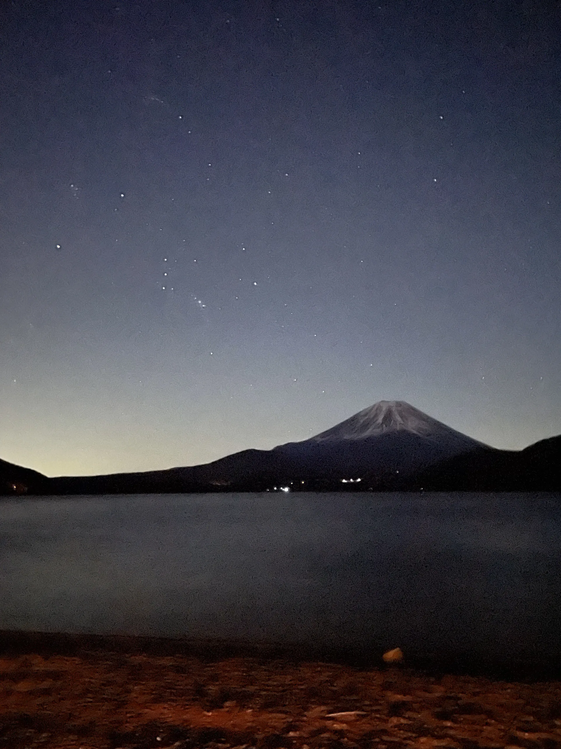
<svg viewBox="0 0 561 749">
<path fill-rule="evenodd" d="M 404 401 L 380 401 L 310 439 L 191 467 L 48 479 L 0 461 L 0 492 L 557 491 L 560 458 L 561 437 L 497 450 Z"/>
</svg>

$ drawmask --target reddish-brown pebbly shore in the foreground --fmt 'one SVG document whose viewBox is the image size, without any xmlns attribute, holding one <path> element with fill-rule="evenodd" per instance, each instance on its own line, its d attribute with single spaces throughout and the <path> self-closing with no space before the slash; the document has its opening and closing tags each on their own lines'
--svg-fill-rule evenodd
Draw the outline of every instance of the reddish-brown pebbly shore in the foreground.
<svg viewBox="0 0 561 749">
<path fill-rule="evenodd" d="M 10 749 L 561 747 L 561 682 L 536 672 L 509 682 L 484 664 L 367 663 L 375 652 L 5 631 L 0 651 Z"/>
</svg>

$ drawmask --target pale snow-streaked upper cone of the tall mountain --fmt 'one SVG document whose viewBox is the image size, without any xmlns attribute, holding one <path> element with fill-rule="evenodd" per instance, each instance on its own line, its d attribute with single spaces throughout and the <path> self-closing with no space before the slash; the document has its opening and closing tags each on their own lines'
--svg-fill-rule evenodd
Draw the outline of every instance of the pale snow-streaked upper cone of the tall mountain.
<svg viewBox="0 0 561 749">
<path fill-rule="evenodd" d="M 432 419 L 405 401 L 378 401 L 307 441 L 363 440 L 365 437 L 378 437 L 392 431 L 408 431 L 418 437 L 438 440 L 445 438 L 447 441 L 450 437 L 465 439 L 464 434 Z"/>
</svg>

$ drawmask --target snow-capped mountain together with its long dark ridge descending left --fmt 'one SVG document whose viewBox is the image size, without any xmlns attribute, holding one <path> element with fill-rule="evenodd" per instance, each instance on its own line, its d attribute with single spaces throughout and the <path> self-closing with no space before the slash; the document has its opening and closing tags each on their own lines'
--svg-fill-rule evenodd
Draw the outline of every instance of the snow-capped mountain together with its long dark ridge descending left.
<svg viewBox="0 0 561 749">
<path fill-rule="evenodd" d="M 380 401 L 328 431 L 272 450 L 249 449 L 209 464 L 147 473 L 55 479 L 58 491 L 263 491 L 278 485 L 393 488 L 447 458 L 491 448 L 404 401 Z"/>
</svg>

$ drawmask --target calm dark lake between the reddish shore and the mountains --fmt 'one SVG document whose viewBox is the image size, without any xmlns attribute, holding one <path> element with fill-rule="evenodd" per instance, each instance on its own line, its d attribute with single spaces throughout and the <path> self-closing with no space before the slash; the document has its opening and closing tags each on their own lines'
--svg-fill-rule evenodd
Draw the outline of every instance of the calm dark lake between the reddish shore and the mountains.
<svg viewBox="0 0 561 749">
<path fill-rule="evenodd" d="M 561 494 L 0 502 L 0 629 L 561 663 Z"/>
</svg>

